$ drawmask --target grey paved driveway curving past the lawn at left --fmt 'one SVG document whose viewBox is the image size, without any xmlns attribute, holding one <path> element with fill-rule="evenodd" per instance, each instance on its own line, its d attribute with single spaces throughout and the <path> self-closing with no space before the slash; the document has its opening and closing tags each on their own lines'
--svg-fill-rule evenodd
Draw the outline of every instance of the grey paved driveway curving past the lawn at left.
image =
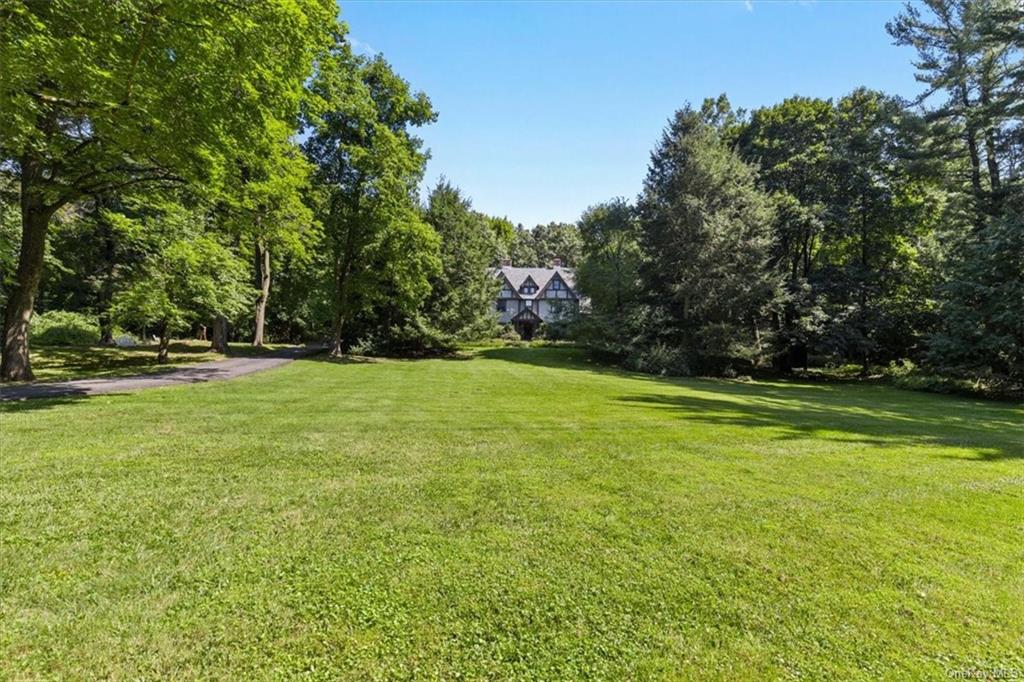
<svg viewBox="0 0 1024 682">
<path fill-rule="evenodd" d="M 123 393 L 158 386 L 195 384 L 204 381 L 234 379 L 254 372 L 270 370 L 291 363 L 296 357 L 321 352 L 322 348 L 288 348 L 257 357 L 229 357 L 210 363 L 198 363 L 188 367 L 170 369 L 156 374 L 141 374 L 131 377 L 110 377 L 108 379 L 75 379 L 22 386 L 0 388 L 0 402 L 26 400 L 30 398 L 66 397 L 69 395 L 99 395 L 100 393 Z"/>
</svg>

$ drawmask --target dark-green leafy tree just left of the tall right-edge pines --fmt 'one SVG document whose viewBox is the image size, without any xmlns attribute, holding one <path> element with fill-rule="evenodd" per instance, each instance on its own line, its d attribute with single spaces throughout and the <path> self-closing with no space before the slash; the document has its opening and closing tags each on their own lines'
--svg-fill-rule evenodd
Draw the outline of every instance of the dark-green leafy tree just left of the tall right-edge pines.
<svg viewBox="0 0 1024 682">
<path fill-rule="evenodd" d="M 935 202 L 927 178 L 901 157 L 908 146 L 902 119 L 898 100 L 871 90 L 855 90 L 836 106 L 827 242 L 813 281 L 828 316 L 823 343 L 859 360 L 865 374 L 880 351 L 905 356 L 920 339 L 927 296 L 916 273 Z"/>
</svg>

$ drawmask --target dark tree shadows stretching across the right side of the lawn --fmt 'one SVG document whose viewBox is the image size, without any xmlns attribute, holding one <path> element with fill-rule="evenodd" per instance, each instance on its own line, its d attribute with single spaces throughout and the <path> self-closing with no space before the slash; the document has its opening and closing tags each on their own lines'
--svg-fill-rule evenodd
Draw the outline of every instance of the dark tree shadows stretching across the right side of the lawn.
<svg viewBox="0 0 1024 682">
<path fill-rule="evenodd" d="M 612 399 L 710 426 L 763 429 L 772 438 L 934 444 L 972 451 L 961 458 L 972 461 L 1024 459 L 1024 412 L 1014 406 L 880 385 L 668 379 L 602 366 L 583 349 L 494 348 L 479 356 L 640 380 L 654 390 L 638 386 Z"/>
</svg>

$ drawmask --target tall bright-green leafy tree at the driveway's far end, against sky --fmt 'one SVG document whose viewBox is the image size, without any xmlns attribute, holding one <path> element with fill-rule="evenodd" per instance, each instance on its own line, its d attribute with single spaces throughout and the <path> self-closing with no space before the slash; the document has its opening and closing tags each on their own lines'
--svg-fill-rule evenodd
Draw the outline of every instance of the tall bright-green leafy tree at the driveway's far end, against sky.
<svg viewBox="0 0 1024 682">
<path fill-rule="evenodd" d="M 318 65 L 311 94 L 304 148 L 324 194 L 331 352 L 338 355 L 353 341 L 346 335 L 356 318 L 382 308 L 388 317 L 415 311 L 439 270 L 437 235 L 416 197 L 427 157 L 411 132 L 435 114 L 383 58 L 352 54 L 343 35 Z"/>
</svg>

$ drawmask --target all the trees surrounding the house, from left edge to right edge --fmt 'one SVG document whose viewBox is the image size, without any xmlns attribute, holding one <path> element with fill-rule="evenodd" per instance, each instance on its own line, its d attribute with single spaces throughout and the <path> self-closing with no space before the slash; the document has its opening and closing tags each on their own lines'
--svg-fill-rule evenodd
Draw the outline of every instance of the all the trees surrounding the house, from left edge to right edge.
<svg viewBox="0 0 1024 682">
<path fill-rule="evenodd" d="M 524 228 L 446 180 L 437 113 L 353 52 L 333 0 L 0 8 L 5 380 L 33 314 L 424 353 L 496 333 L 501 259 L 575 267 L 583 342 L 655 373 L 928 366 L 1024 382 L 1024 14 L 928 0 L 887 27 L 925 92 L 669 121 L 635 202 Z M 266 36 L 275 36 L 267 41 Z"/>
</svg>

